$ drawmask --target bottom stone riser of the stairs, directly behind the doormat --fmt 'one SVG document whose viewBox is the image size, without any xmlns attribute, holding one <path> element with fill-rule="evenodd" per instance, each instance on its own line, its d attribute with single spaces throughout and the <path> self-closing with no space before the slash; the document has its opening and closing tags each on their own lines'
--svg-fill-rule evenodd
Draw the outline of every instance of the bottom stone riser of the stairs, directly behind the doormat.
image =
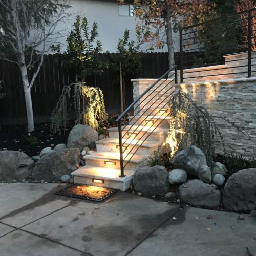
<svg viewBox="0 0 256 256">
<path fill-rule="evenodd" d="M 127 190 L 130 187 L 131 182 L 132 182 L 132 176 L 130 176 L 130 179 L 127 179 L 125 182 L 120 182 L 115 180 L 104 180 L 103 184 L 100 184 L 100 183 L 95 184 L 91 177 L 80 177 L 80 176 L 74 175 L 74 183 L 109 187 L 114 189 L 120 189 L 121 191 Z"/>
</svg>

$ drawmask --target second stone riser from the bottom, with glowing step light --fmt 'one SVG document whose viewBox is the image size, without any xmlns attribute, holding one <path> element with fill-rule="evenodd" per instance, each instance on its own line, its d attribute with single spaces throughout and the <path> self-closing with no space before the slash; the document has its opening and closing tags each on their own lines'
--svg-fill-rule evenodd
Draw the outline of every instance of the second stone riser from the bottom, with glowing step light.
<svg viewBox="0 0 256 256">
<path fill-rule="evenodd" d="M 115 165 L 106 164 L 105 161 L 115 162 Z M 127 161 L 124 161 L 123 165 L 125 165 L 126 163 Z M 139 166 L 145 166 L 145 164 L 145 161 L 139 164 L 130 161 L 125 166 L 125 170 L 136 170 Z M 86 166 L 120 169 L 120 160 L 86 159 Z"/>
</svg>

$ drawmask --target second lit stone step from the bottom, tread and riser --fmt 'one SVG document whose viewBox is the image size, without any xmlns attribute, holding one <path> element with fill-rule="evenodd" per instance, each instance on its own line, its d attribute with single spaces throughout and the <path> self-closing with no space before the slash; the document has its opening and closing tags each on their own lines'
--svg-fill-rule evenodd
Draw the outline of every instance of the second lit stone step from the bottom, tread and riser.
<svg viewBox="0 0 256 256">
<path fill-rule="evenodd" d="M 118 152 L 94 152 L 83 157 L 87 166 L 114 168 L 120 170 L 120 153 Z M 144 155 L 123 154 L 123 164 L 127 170 L 136 170 L 139 166 L 145 166 Z"/>
</svg>

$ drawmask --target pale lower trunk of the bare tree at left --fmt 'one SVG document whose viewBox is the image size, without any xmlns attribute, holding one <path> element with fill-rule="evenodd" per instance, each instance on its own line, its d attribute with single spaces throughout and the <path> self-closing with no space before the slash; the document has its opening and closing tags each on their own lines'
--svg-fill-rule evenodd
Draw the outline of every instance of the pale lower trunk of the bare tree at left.
<svg viewBox="0 0 256 256">
<path fill-rule="evenodd" d="M 28 72 L 25 64 L 20 66 L 20 73 L 22 74 L 22 83 L 25 95 L 27 120 L 28 120 L 28 132 L 35 131 L 34 127 L 34 116 L 33 116 L 33 105 L 31 99 L 31 89 L 29 87 Z"/>
</svg>

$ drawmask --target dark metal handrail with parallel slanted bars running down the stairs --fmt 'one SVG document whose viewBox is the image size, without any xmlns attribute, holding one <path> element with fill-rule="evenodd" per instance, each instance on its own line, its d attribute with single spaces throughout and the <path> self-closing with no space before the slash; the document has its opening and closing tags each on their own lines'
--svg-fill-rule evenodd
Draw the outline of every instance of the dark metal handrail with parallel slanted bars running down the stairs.
<svg viewBox="0 0 256 256">
<path fill-rule="evenodd" d="M 169 74 L 170 74 L 170 72 L 172 72 L 172 71 L 174 71 L 174 73 L 173 74 L 171 74 L 170 76 L 169 76 Z M 147 135 L 147 137 L 142 141 L 142 143 L 140 144 L 140 145 L 138 145 L 138 142 L 140 141 L 140 139 L 141 138 L 143 138 L 144 137 L 144 135 L 148 132 L 148 131 L 145 131 L 144 133 L 143 133 L 143 135 L 137 140 L 137 142 L 133 145 L 133 147 L 131 148 L 131 150 L 129 151 L 129 153 L 127 153 L 127 155 L 126 155 L 126 157 L 127 156 L 129 156 L 129 154 L 132 152 L 132 150 L 133 150 L 133 148 L 135 147 L 135 146 L 137 146 L 138 145 L 138 148 L 137 148 L 137 150 L 132 154 L 132 156 L 129 158 L 129 159 L 125 159 L 125 158 L 123 158 L 123 153 L 124 153 L 124 151 L 126 151 L 126 149 L 128 148 L 128 146 L 129 145 L 131 145 L 131 143 L 129 144 L 129 145 L 127 145 L 126 146 L 126 148 L 125 148 L 125 150 L 123 150 L 123 137 L 129 132 L 129 131 L 132 131 L 131 129 L 132 129 L 132 127 L 135 125 L 135 123 L 141 118 L 141 117 L 143 117 L 143 115 L 145 114 L 145 112 L 146 112 L 146 110 L 143 112 L 143 114 L 141 114 L 140 116 L 137 116 L 137 114 L 139 113 L 139 112 L 141 112 L 141 110 L 143 110 L 146 106 L 147 106 L 147 103 L 151 100 L 152 101 L 152 99 L 150 99 L 150 100 L 148 100 L 147 102 L 145 102 L 144 103 L 144 105 L 141 107 L 141 103 L 143 103 L 146 99 L 148 99 L 148 97 L 150 96 L 150 95 L 152 95 L 152 93 L 153 92 L 155 92 L 156 91 L 156 89 L 158 89 L 160 86 L 162 86 L 162 84 L 165 82 L 165 81 L 167 81 L 170 77 L 172 77 L 172 76 L 175 76 L 175 78 L 174 79 L 172 79 L 172 80 L 170 80 L 167 84 L 166 84 L 166 86 L 168 86 L 168 84 L 170 84 L 170 83 L 172 83 L 174 80 L 175 80 L 175 83 L 178 83 L 178 75 L 177 75 L 177 65 L 175 65 L 175 66 L 173 66 L 172 68 L 170 68 L 167 72 L 165 72 L 160 78 L 158 78 L 154 83 L 152 83 L 151 84 L 151 86 L 150 87 L 148 87 L 139 97 L 137 97 L 135 100 L 134 100 L 134 102 L 132 103 L 132 104 L 130 104 L 129 106 L 128 106 L 128 108 L 126 108 L 125 110 L 124 110 L 124 112 L 117 118 L 117 120 L 115 121 L 116 123 L 118 123 L 118 136 L 119 136 L 119 152 L 120 152 L 120 172 L 121 172 L 121 174 L 120 174 L 120 177 L 124 177 L 125 175 L 124 175 L 124 168 L 125 168 L 125 166 L 127 165 L 127 163 L 129 163 L 129 161 L 132 159 L 132 157 L 135 155 L 135 153 L 138 151 L 138 149 L 139 149 L 139 147 L 144 143 L 144 141 L 148 138 L 148 136 L 150 136 L 154 131 L 155 131 L 155 129 L 158 127 L 158 125 L 164 120 L 161 120 L 161 122 L 156 126 L 156 127 L 154 127 L 154 130 L 153 131 L 150 131 L 151 133 L 150 134 L 148 134 Z M 164 81 L 162 81 L 161 82 L 161 80 L 163 79 L 163 78 L 165 78 L 167 76 L 167 78 L 164 80 Z M 160 82 L 160 83 L 159 83 Z M 156 86 L 157 85 L 157 86 Z M 170 90 L 170 89 L 172 89 L 173 87 L 171 87 L 171 88 L 169 88 L 168 89 L 168 91 Z M 153 89 L 153 91 L 151 91 L 151 89 Z M 150 92 L 151 91 L 151 92 Z M 150 93 L 148 93 L 148 92 L 150 92 Z M 160 92 L 158 92 L 156 95 L 159 95 L 161 93 L 161 91 Z M 173 92 L 172 92 L 173 93 Z M 169 97 L 170 95 L 172 95 L 172 93 L 170 93 L 167 97 Z M 142 101 L 140 101 L 144 96 L 146 96 Z M 163 96 L 163 94 L 162 95 L 160 95 L 157 99 L 155 98 L 155 101 L 153 102 L 153 103 L 151 103 L 151 106 L 153 106 L 154 105 L 154 103 L 155 102 L 157 102 L 159 99 L 161 99 L 161 97 Z M 166 98 L 167 98 L 166 97 Z M 165 98 L 165 99 L 166 99 Z M 164 100 L 165 100 L 164 99 Z M 139 102 L 139 104 L 137 104 L 137 106 L 135 106 L 135 104 L 136 103 L 138 103 Z M 160 105 L 161 103 L 159 103 L 158 104 L 158 106 Z M 166 104 L 165 104 L 166 105 Z M 165 106 L 164 105 L 164 106 Z M 135 118 L 135 116 L 136 116 L 136 118 L 137 118 L 137 120 L 135 121 L 135 123 L 134 124 L 132 124 L 131 125 L 131 127 L 127 130 L 127 131 L 125 131 L 125 134 L 124 135 L 122 135 L 122 119 L 123 119 L 123 117 L 132 109 L 132 108 L 134 108 L 134 106 L 135 106 L 135 109 L 134 110 L 136 110 L 139 106 L 141 107 L 140 109 L 139 109 L 139 112 L 137 113 L 137 114 L 135 114 L 134 113 L 134 116 L 133 116 L 133 118 Z M 150 107 L 151 107 L 150 106 Z M 157 106 L 157 107 L 158 107 Z M 154 110 L 152 110 L 152 112 L 151 112 L 151 114 L 154 112 Z M 162 116 L 162 115 L 161 115 Z M 160 116 L 160 117 L 161 117 Z M 132 119 L 133 119 L 132 118 Z M 131 119 L 131 120 L 132 120 Z M 144 119 L 147 119 L 147 118 L 144 118 Z M 153 117 L 151 117 L 151 119 L 150 120 L 152 120 L 153 119 Z M 131 121 L 130 120 L 130 121 Z M 138 125 L 138 126 L 140 126 L 142 123 L 144 122 L 144 120 L 142 120 L 141 121 L 141 123 Z M 153 124 L 152 124 L 153 125 Z M 152 127 L 152 125 L 150 126 L 150 127 Z M 123 129 L 126 127 L 127 125 L 124 125 L 123 126 Z M 138 133 L 140 133 L 141 131 L 143 130 L 143 127 L 142 127 L 142 129 L 140 129 L 140 131 L 138 131 Z M 136 129 L 135 129 L 135 131 L 136 131 Z M 137 131 L 136 131 L 137 132 Z M 132 135 L 130 135 L 126 140 L 125 140 L 125 142 L 124 143 L 126 143 L 127 142 L 127 140 L 129 140 L 129 138 L 131 137 Z M 126 160 L 126 164 L 124 165 L 124 160 Z"/>
</svg>

